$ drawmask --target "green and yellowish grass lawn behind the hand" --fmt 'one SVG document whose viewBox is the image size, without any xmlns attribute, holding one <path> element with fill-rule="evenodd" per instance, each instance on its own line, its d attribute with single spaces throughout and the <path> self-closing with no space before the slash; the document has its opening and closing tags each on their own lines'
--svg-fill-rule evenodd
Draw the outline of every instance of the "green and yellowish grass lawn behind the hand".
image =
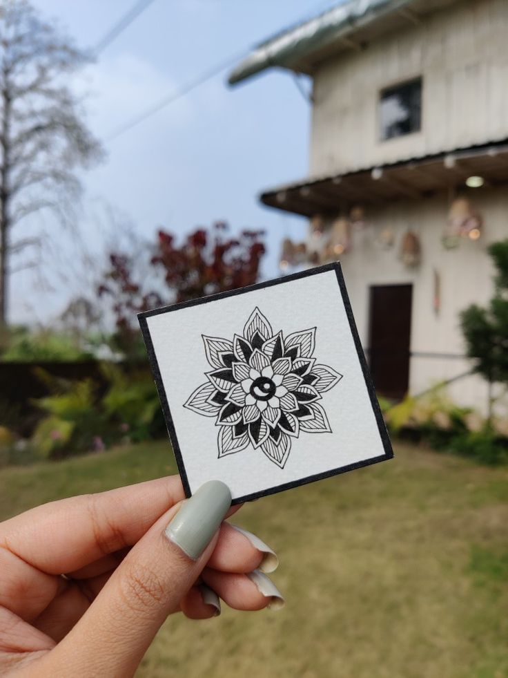
<svg viewBox="0 0 508 678">
<path fill-rule="evenodd" d="M 286 607 L 170 619 L 138 675 L 508 676 L 508 469 L 395 455 L 245 506 Z M 0 518 L 174 471 L 166 442 L 1 469 Z"/>
</svg>

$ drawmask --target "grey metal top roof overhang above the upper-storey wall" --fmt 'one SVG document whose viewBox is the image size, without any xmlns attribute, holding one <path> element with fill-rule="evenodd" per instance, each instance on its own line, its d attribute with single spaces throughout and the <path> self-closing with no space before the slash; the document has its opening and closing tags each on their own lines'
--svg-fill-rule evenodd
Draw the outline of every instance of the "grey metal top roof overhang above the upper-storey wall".
<svg viewBox="0 0 508 678">
<path fill-rule="evenodd" d="M 257 46 L 228 77 L 242 82 L 271 66 L 312 73 L 313 64 L 331 52 L 361 49 L 364 42 L 388 30 L 420 23 L 421 17 L 455 0 L 349 0 L 289 28 Z"/>
</svg>

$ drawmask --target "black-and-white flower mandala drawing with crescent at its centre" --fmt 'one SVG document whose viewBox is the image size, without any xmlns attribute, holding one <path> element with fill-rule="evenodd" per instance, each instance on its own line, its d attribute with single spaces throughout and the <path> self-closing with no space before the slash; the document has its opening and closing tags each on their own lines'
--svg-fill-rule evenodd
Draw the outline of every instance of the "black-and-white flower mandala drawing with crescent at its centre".
<svg viewBox="0 0 508 678">
<path fill-rule="evenodd" d="M 184 407 L 215 417 L 219 458 L 246 449 L 262 449 L 281 469 L 291 438 L 304 433 L 331 433 L 317 402 L 342 378 L 315 364 L 315 330 L 284 337 L 255 308 L 243 335 L 233 340 L 203 335 L 206 359 L 213 370 Z"/>
</svg>

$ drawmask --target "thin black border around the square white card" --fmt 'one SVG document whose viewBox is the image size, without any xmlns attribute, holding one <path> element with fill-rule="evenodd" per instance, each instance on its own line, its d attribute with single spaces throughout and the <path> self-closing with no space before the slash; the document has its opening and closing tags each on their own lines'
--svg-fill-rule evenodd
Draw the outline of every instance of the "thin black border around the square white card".
<svg viewBox="0 0 508 678">
<path fill-rule="evenodd" d="M 379 406 L 378 399 L 375 395 L 374 385 L 372 382 L 371 375 L 369 373 L 369 368 L 367 366 L 367 360 L 365 359 L 365 355 L 362 349 L 362 343 L 360 341 L 360 337 L 358 336 L 358 330 L 356 329 L 353 311 L 351 310 L 351 303 L 349 302 L 346 284 L 344 283 L 344 276 L 342 275 L 342 267 L 340 266 L 340 263 L 338 261 L 335 261 L 333 263 L 325 264 L 324 266 L 317 266 L 315 268 L 311 268 L 305 271 L 289 274 L 283 276 L 282 278 L 275 278 L 273 280 L 264 281 L 263 283 L 249 285 L 248 287 L 240 288 L 238 290 L 231 290 L 231 292 L 219 292 L 219 294 L 204 296 L 201 299 L 192 299 L 191 301 L 183 301 L 182 303 L 175 303 L 168 306 L 162 306 L 161 308 L 154 308 L 153 310 L 145 311 L 143 313 L 138 314 L 137 318 L 139 320 L 139 325 L 141 326 L 141 333 L 143 335 L 146 351 L 148 353 L 148 360 L 150 361 L 150 367 L 152 368 L 153 375 L 155 377 L 155 385 L 157 386 L 157 391 L 159 393 L 159 399 L 162 405 L 162 412 L 164 413 L 164 419 L 166 420 L 166 427 L 168 429 L 171 444 L 173 445 L 173 451 L 175 453 L 175 458 L 177 461 L 180 476 L 182 478 L 182 484 L 184 485 L 186 497 L 190 497 L 192 493 L 190 491 L 190 485 L 188 483 L 184 458 L 182 457 L 182 452 L 180 451 L 177 432 L 175 430 L 175 425 L 173 424 L 173 417 L 171 417 L 168 398 L 166 397 L 166 390 L 162 382 L 162 375 L 159 369 L 159 364 L 157 362 L 157 357 L 155 356 L 155 350 L 153 348 L 152 338 L 150 337 L 150 330 L 148 329 L 148 323 L 146 319 L 154 315 L 159 315 L 161 313 L 177 311 L 182 308 L 188 308 L 189 306 L 197 306 L 203 303 L 211 303 L 212 301 L 217 301 L 217 299 L 226 299 L 226 297 L 228 296 L 237 296 L 238 294 L 246 294 L 247 292 L 253 292 L 254 290 L 263 290 L 264 288 L 270 288 L 273 285 L 282 285 L 284 283 L 289 283 L 293 280 L 299 280 L 300 278 L 307 278 L 309 276 L 320 275 L 328 271 L 335 271 L 335 274 L 337 276 L 340 294 L 342 295 L 342 301 L 346 308 L 346 315 L 349 321 L 349 327 L 351 328 L 351 333 L 353 335 L 353 340 L 355 342 L 355 348 L 358 354 L 358 359 L 360 360 L 360 365 L 362 366 L 362 373 L 364 375 L 365 383 L 367 384 L 367 391 L 369 393 L 369 398 L 371 400 L 371 406 L 373 409 L 375 420 L 376 423 L 378 424 L 378 430 L 384 448 L 384 455 L 379 455 L 378 457 L 372 457 L 370 459 L 364 459 L 362 461 L 355 462 L 354 464 L 348 464 L 347 466 L 338 467 L 337 469 L 324 471 L 324 473 L 308 475 L 306 476 L 306 478 L 300 478 L 299 480 L 294 480 L 292 482 L 285 482 L 260 492 L 247 494 L 243 497 L 238 497 L 234 499 L 233 505 L 241 504 L 247 501 L 252 501 L 254 499 L 259 499 L 261 497 L 266 497 L 277 492 L 282 492 L 286 489 L 292 489 L 293 487 L 300 487 L 300 485 L 307 484 L 308 482 L 314 482 L 315 480 L 331 478 L 331 476 L 333 475 L 339 475 L 340 473 L 353 471 L 353 469 L 361 469 L 364 466 L 370 466 L 371 464 L 376 464 L 378 462 L 382 462 L 384 460 L 393 458 L 393 449 L 391 446 L 391 441 L 388 435 L 387 427 L 384 424 L 381 408 Z"/>
</svg>

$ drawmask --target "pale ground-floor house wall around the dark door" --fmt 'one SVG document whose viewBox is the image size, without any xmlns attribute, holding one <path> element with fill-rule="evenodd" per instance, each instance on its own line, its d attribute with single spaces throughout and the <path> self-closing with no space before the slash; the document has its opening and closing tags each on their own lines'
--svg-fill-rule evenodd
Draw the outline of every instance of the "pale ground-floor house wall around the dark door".
<svg viewBox="0 0 508 678">
<path fill-rule="evenodd" d="M 369 288 L 371 285 L 413 285 L 411 351 L 463 354 L 458 312 L 470 303 L 485 304 L 493 284 L 488 243 L 508 235 L 508 191 L 477 189 L 469 191 L 473 204 L 485 220 L 485 231 L 479 241 L 463 238 L 457 249 L 444 249 L 441 236 L 449 204 L 446 198 L 420 202 L 393 203 L 367 212 L 368 225 L 353 230 L 353 247 L 340 261 L 344 270 L 351 305 L 365 348 L 369 341 Z M 376 234 L 391 225 L 395 244 L 382 249 Z M 400 243 L 411 227 L 420 237 L 422 261 L 416 268 L 407 268 L 400 261 Z M 433 270 L 440 274 L 441 306 L 433 310 Z M 396 309 L 394 310 L 396 312 Z M 471 368 L 466 359 L 412 357 L 409 374 L 411 393 L 420 393 L 436 382 L 451 379 Z M 455 402 L 473 406 L 485 413 L 487 385 L 479 377 L 467 377 L 449 387 Z"/>
</svg>

